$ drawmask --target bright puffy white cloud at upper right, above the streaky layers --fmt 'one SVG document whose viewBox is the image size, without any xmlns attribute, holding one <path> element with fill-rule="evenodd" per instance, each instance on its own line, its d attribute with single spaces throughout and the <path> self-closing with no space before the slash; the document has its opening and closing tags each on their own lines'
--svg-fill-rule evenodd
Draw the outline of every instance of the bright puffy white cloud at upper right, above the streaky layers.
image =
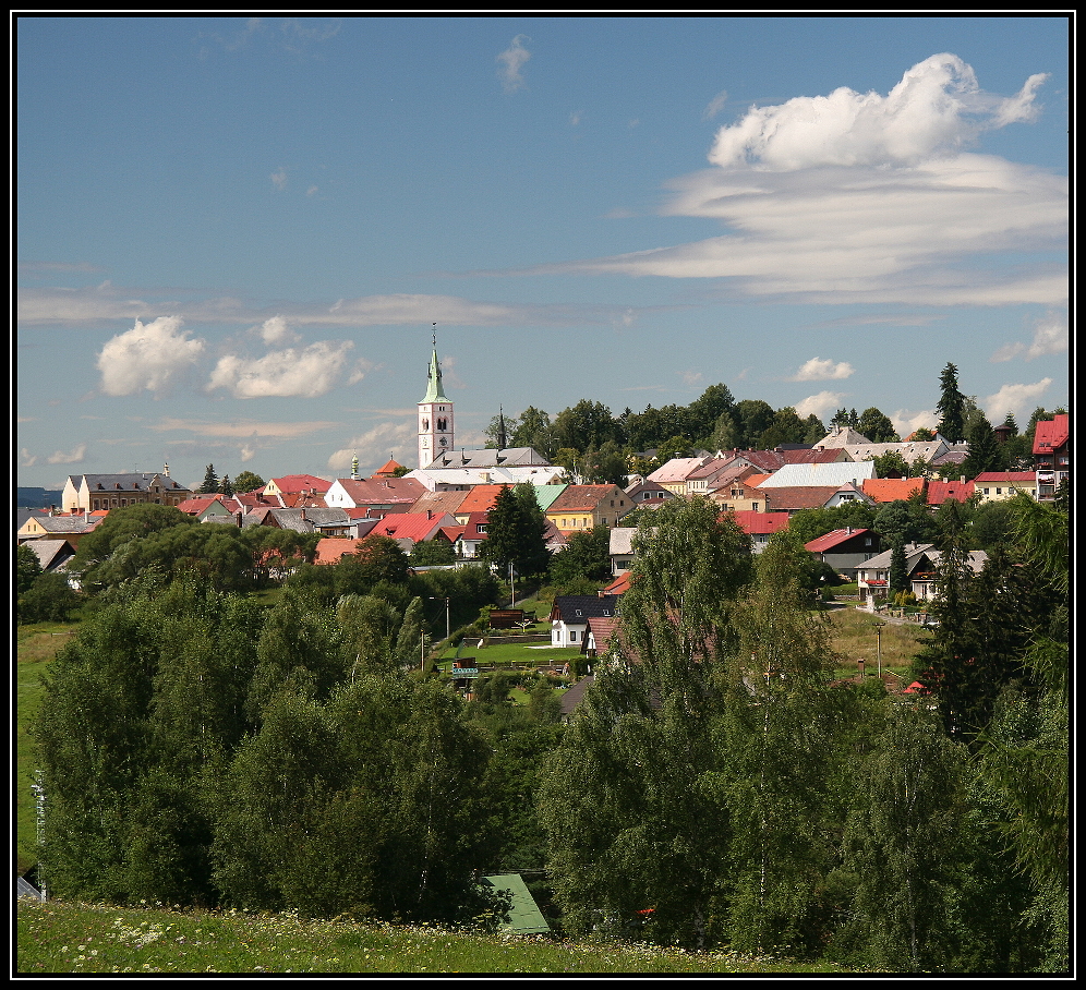
<svg viewBox="0 0 1086 990">
<path fill-rule="evenodd" d="M 709 160 L 722 168 L 757 164 L 772 170 L 828 165 L 912 166 L 954 155 L 986 130 L 1033 120 L 1036 90 L 1048 76 L 1026 80 L 1012 97 L 985 93 L 957 56 L 925 59 L 886 96 L 846 86 L 829 96 L 798 96 L 752 107 L 721 128 Z"/>
</svg>

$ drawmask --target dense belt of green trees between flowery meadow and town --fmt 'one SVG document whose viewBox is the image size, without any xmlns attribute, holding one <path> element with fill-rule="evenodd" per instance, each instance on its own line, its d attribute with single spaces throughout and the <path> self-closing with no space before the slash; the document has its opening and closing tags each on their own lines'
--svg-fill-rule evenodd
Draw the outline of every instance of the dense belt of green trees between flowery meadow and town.
<svg viewBox="0 0 1086 990">
<path fill-rule="evenodd" d="M 309 538 L 159 508 L 80 547 L 82 621 L 34 729 L 53 896 L 471 925 L 500 910 L 476 878 L 523 870 L 571 934 L 1067 969 L 1060 507 L 1015 499 L 976 575 L 972 520 L 939 519 L 926 691 L 894 696 L 833 680 L 795 533 L 755 556 L 675 499 L 638 527 L 568 722 L 543 681 L 524 705 L 498 677 L 463 700 L 419 664 L 444 599 L 458 630 L 497 601 L 485 568 L 413 574 L 379 538 L 314 568 Z"/>
</svg>

